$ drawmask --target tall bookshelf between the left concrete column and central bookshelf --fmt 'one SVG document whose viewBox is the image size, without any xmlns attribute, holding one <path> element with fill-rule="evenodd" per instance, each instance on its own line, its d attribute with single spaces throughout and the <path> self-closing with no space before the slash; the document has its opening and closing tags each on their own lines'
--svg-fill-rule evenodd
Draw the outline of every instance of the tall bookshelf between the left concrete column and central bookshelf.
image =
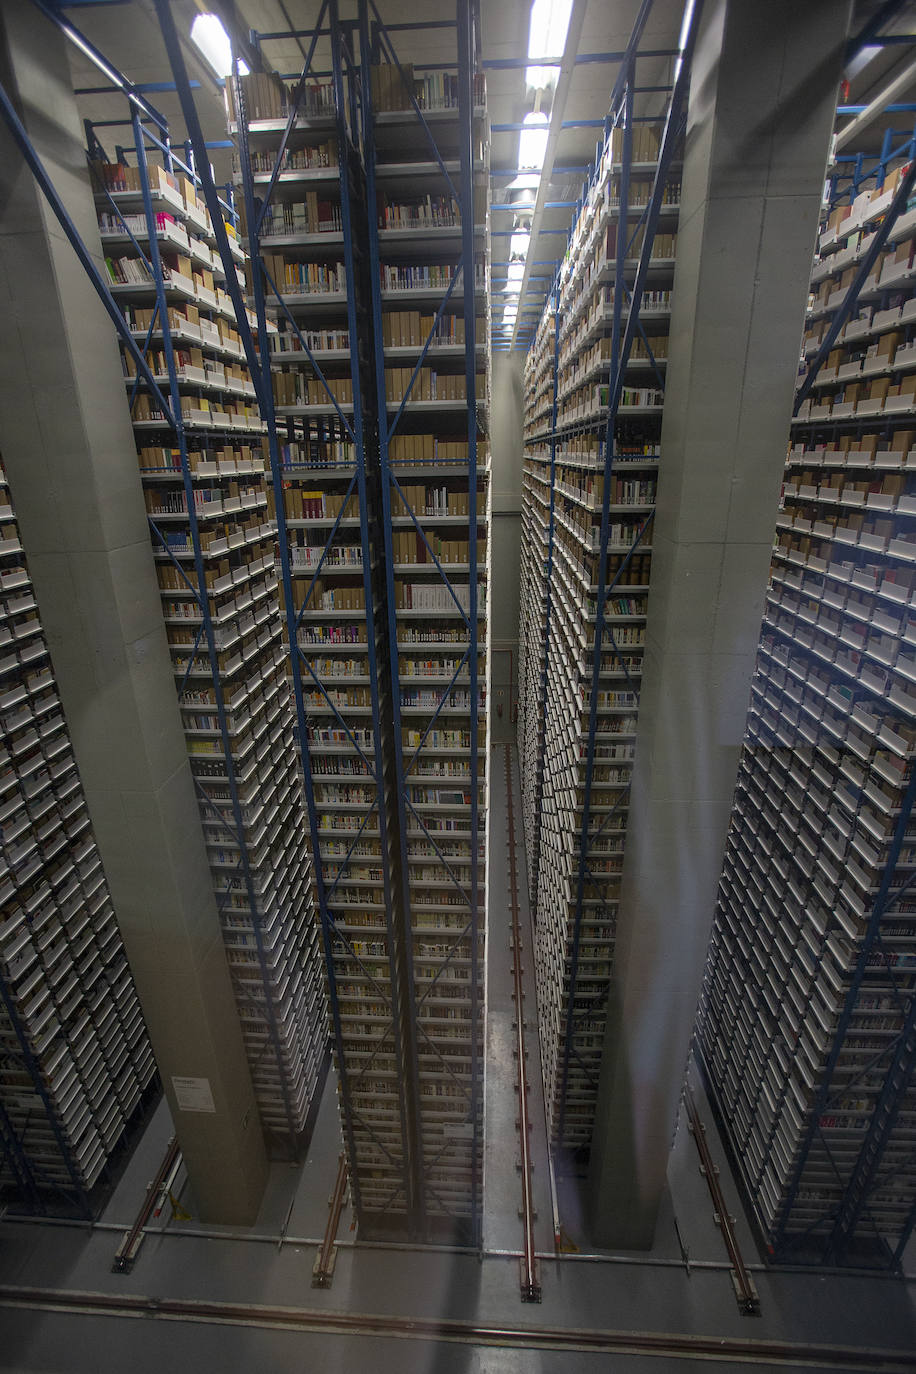
<svg viewBox="0 0 916 1374">
<path fill-rule="evenodd" d="M 148 159 L 169 331 L 185 429 L 202 585 L 180 448 L 125 353 L 137 460 L 201 824 L 258 1109 L 299 1134 L 324 1061 L 324 1007 L 310 864 L 273 570 L 264 423 L 206 207 L 187 177 Z M 162 393 L 163 322 L 144 261 L 150 228 L 137 168 L 92 164 L 115 294 Z M 161 209 L 159 209 L 161 206 Z M 126 225 L 125 221 L 126 220 Z M 130 234 L 126 234 L 126 228 Z M 244 280 L 235 227 L 229 243 Z M 190 247 L 183 250 L 181 238 Z M 174 246 L 174 247 L 173 247 Z M 250 317 L 253 323 L 253 317 Z M 213 660 L 206 605 L 213 633 Z M 225 714 L 227 734 L 221 723 Z M 228 745 L 227 745 L 228 741 Z M 240 823 L 240 824 L 239 824 Z"/>
</svg>

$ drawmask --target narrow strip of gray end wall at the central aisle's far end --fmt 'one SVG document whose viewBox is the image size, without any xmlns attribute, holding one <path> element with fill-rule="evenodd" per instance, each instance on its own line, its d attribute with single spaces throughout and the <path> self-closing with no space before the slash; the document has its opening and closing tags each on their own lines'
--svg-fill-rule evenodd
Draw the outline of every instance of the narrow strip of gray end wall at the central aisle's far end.
<svg viewBox="0 0 916 1374">
<path fill-rule="evenodd" d="M 496 353 L 490 383 L 490 736 L 512 743 L 518 699 L 525 354 Z M 500 714 L 501 712 L 501 714 Z"/>
</svg>

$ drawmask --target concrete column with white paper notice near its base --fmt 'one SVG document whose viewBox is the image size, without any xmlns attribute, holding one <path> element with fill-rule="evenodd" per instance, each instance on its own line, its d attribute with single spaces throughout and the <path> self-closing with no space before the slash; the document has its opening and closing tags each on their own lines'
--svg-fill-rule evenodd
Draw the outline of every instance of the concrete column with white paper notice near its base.
<svg viewBox="0 0 916 1374">
<path fill-rule="evenodd" d="M 65 40 L 33 5 L 3 5 L 0 80 L 104 271 Z M 0 452 L 194 1198 L 203 1220 L 250 1223 L 264 1139 L 115 334 L 1 121 L 0 168 Z"/>
</svg>

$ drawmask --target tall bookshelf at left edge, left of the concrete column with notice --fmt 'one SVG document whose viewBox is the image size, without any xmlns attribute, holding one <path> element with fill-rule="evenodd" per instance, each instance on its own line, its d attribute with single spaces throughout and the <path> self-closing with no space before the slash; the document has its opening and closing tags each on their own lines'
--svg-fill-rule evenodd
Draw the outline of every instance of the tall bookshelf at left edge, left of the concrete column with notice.
<svg viewBox="0 0 916 1374">
<path fill-rule="evenodd" d="M 155 1079 L 0 470 L 0 1200 L 91 1216 Z"/>
</svg>

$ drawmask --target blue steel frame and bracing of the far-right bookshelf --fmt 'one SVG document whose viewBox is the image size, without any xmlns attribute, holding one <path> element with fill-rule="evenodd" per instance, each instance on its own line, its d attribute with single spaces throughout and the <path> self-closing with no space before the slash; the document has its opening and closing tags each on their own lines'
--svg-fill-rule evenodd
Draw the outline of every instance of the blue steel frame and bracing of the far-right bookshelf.
<svg viewBox="0 0 916 1374">
<path fill-rule="evenodd" d="M 823 363 L 825 361 L 829 350 L 834 348 L 843 323 L 854 312 L 865 280 L 869 276 L 880 250 L 887 242 L 898 216 L 906 210 L 913 187 L 916 187 L 916 129 L 906 133 L 904 142 L 895 146 L 894 137 L 898 136 L 900 132 L 904 131 L 889 129 L 886 132 L 882 151 L 876 162 L 869 166 L 868 170 L 865 170 L 862 154 L 854 154 L 850 155 L 849 159 L 842 159 L 853 164 L 849 187 L 840 187 L 839 176 L 834 176 L 831 180 L 831 205 L 842 203 L 846 195 L 849 195 L 850 201 L 854 199 L 860 185 L 872 177 L 875 179 L 876 185 L 883 185 L 884 174 L 891 161 L 901 157 L 909 159 L 909 168 L 901 179 L 893 202 L 879 228 L 872 235 L 869 249 L 862 256 L 856 276 L 849 284 L 839 308 L 835 311 L 831 327 L 797 389 L 794 415 L 798 415 L 802 403 L 810 394 Z M 797 1252 L 801 1245 L 812 1245 L 813 1242 L 823 1239 L 824 1259 L 827 1261 L 838 1264 L 849 1263 L 849 1252 L 856 1228 L 862 1216 L 868 1215 L 869 1194 L 879 1187 L 884 1187 L 895 1172 L 894 1169 L 890 1172 L 882 1172 L 882 1160 L 902 1107 L 904 1095 L 912 1084 L 913 1073 L 916 1070 L 916 995 L 912 992 L 906 995 L 905 991 L 897 984 L 893 963 L 889 958 L 886 958 L 882 940 L 882 925 L 887 921 L 887 918 L 894 915 L 898 904 L 911 892 L 913 883 L 916 883 L 916 874 L 902 882 L 898 881 L 897 885 L 894 883 L 897 863 L 900 860 L 901 849 L 904 848 L 906 831 L 913 820 L 915 807 L 916 764 L 911 760 L 906 790 L 900 809 L 900 816 L 894 827 L 894 835 L 889 848 L 882 882 L 857 954 L 856 967 L 843 1000 L 843 1010 L 834 1032 L 834 1041 L 827 1058 L 823 1081 L 810 1109 L 808 1128 L 802 1139 L 802 1147 L 792 1169 L 792 1178 L 786 1201 L 781 1206 L 780 1224 L 773 1243 L 773 1256 L 776 1260 L 797 1259 Z M 894 1036 L 879 1057 L 889 1059 L 884 1085 L 872 1113 L 872 1118 L 865 1132 L 865 1139 L 862 1140 L 856 1164 L 843 1186 L 839 1202 L 835 1206 L 825 1209 L 824 1215 L 810 1223 L 802 1232 L 790 1234 L 787 1223 L 802 1184 L 805 1165 L 816 1140 L 820 1142 L 829 1157 L 829 1146 L 823 1134 L 821 1118 L 829 1107 L 849 1091 L 849 1084 L 843 1084 L 839 1090 L 836 1090 L 834 1085 L 834 1076 L 846 1043 L 846 1036 L 850 1032 L 853 1017 L 856 1015 L 857 999 L 862 982 L 872 970 L 875 959 L 879 960 L 880 967 L 889 978 L 891 992 L 894 993 L 894 999 L 902 1015 L 898 1035 Z M 871 1066 L 873 1065 L 869 1065 L 869 1068 Z M 875 1234 L 880 1239 L 884 1249 L 887 1249 L 890 1263 L 894 1267 L 900 1267 L 901 1264 L 915 1221 L 916 1206 L 911 1212 L 909 1220 L 893 1250 L 890 1250 L 884 1242 L 878 1226 L 872 1223 Z M 825 1228 L 825 1234 L 823 1237 L 820 1235 L 821 1227 Z"/>
</svg>

